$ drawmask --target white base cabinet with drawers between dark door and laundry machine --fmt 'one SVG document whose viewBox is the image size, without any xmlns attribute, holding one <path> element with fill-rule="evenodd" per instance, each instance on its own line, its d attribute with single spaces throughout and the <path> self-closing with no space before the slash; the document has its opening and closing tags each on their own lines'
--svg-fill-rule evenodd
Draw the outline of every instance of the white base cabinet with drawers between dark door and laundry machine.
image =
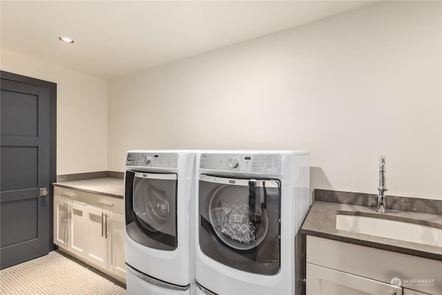
<svg viewBox="0 0 442 295">
<path fill-rule="evenodd" d="M 61 187 L 54 196 L 54 243 L 126 283 L 124 200 Z"/>
</svg>

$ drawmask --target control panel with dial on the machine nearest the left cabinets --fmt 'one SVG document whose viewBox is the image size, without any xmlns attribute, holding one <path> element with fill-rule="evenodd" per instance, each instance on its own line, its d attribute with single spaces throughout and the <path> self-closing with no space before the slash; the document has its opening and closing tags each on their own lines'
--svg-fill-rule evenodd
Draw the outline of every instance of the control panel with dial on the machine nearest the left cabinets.
<svg viewBox="0 0 442 295">
<path fill-rule="evenodd" d="M 177 168 L 177 153 L 128 153 L 126 165 L 144 166 L 144 167 L 161 167 L 161 168 Z"/>
</svg>

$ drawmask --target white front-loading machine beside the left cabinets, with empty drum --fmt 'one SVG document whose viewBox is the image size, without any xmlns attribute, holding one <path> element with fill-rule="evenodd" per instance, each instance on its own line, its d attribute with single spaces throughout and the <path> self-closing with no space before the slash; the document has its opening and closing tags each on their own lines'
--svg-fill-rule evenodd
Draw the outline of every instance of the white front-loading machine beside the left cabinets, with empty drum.
<svg viewBox="0 0 442 295">
<path fill-rule="evenodd" d="M 128 151 L 125 173 L 128 294 L 192 294 L 193 151 Z M 193 287 L 192 287 L 193 286 Z"/>
</svg>

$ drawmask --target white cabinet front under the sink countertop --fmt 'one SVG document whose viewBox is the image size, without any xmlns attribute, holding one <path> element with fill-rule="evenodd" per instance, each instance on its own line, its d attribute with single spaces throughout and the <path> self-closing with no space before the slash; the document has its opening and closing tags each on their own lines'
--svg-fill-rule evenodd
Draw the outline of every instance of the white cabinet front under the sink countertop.
<svg viewBox="0 0 442 295">
<path fill-rule="evenodd" d="M 441 294 L 442 261 L 307 236 L 309 294 Z"/>
</svg>

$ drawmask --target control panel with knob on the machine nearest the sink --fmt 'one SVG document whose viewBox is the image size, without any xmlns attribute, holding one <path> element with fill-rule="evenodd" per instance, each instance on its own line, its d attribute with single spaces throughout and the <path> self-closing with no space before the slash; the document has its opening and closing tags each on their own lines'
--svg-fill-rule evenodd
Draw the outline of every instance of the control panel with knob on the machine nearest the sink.
<svg viewBox="0 0 442 295">
<path fill-rule="evenodd" d="M 203 153 L 200 168 L 222 171 L 281 172 L 281 155 Z"/>
</svg>

